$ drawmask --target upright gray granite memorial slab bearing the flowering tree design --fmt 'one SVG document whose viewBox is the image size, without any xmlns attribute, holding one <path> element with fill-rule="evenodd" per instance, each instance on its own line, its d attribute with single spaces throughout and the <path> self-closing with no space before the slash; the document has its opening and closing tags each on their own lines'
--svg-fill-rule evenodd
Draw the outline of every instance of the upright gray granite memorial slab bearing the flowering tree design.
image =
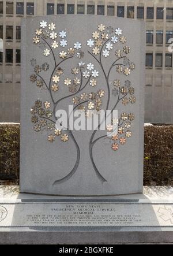
<svg viewBox="0 0 173 256">
<path fill-rule="evenodd" d="M 21 192 L 142 192 L 144 23 L 87 15 L 29 17 L 22 19 L 21 38 Z M 81 121 L 72 119 L 69 106 L 85 117 L 86 126 L 97 116 L 96 127 L 71 129 L 73 120 L 78 127 Z M 66 125 L 58 121 L 60 110 L 67 113 Z M 104 130 L 102 110 L 110 110 Z M 107 123 L 113 110 L 117 118 Z"/>
</svg>

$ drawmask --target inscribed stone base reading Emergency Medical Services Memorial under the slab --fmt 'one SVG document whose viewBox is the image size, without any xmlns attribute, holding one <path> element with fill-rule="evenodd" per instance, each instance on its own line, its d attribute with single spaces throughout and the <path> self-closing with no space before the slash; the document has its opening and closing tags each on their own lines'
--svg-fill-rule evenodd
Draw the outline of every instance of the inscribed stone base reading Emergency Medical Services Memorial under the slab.
<svg viewBox="0 0 173 256">
<path fill-rule="evenodd" d="M 74 198 L 0 186 L 0 244 L 173 243 L 173 188 Z"/>
</svg>

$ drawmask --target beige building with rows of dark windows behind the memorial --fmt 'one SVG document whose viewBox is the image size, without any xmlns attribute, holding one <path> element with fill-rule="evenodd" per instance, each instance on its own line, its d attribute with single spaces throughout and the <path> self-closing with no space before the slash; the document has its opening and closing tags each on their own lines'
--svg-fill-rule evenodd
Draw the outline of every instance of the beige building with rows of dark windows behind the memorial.
<svg viewBox="0 0 173 256">
<path fill-rule="evenodd" d="M 20 121 L 21 17 L 98 14 L 146 21 L 145 121 L 173 123 L 172 0 L 0 0 L 0 121 Z"/>
</svg>

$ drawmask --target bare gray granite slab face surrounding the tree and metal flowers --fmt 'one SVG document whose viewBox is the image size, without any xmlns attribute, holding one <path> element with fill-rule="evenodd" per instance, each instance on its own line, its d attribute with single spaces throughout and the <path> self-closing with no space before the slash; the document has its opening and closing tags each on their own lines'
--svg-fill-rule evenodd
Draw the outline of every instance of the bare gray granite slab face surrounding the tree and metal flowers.
<svg viewBox="0 0 173 256">
<path fill-rule="evenodd" d="M 81 42 L 84 51 L 84 58 L 78 59 L 76 55 L 62 63 L 61 68 L 65 70 L 59 81 L 59 91 L 54 94 L 54 99 L 69 95 L 68 88 L 63 84 L 63 80 L 67 77 L 73 78 L 70 73 L 71 68 L 78 65 L 79 61 L 85 64 L 92 62 L 95 69 L 99 71 L 97 77 L 97 86 L 91 87 L 89 84 L 82 92 L 97 92 L 99 89 L 105 91 L 105 97 L 102 98 L 103 105 L 101 108 L 106 109 L 108 101 L 108 88 L 112 92 L 112 83 L 114 79 L 120 79 L 122 86 L 125 80 L 131 81 L 134 87 L 136 103 L 123 106 L 122 101 L 119 102 L 119 117 L 122 113 L 134 113 L 135 119 L 133 126 L 130 128 L 132 132 L 131 138 L 127 138 L 125 145 L 119 144 L 119 150 L 111 149 L 110 139 L 100 139 L 93 146 L 93 161 L 89 155 L 89 140 L 93 131 L 74 131 L 72 137 L 69 134 L 69 141 L 63 143 L 61 138 L 56 138 L 54 143 L 47 140 L 47 136 L 53 131 L 44 130 L 43 132 L 33 131 L 31 123 L 30 109 L 37 99 L 51 101 L 50 93 L 46 89 L 37 88 L 35 83 L 29 81 L 29 77 L 33 73 L 33 66 L 30 61 L 35 58 L 37 65 L 47 62 L 50 69 L 47 72 L 41 72 L 48 84 L 52 70 L 54 69 L 54 60 L 52 53 L 50 56 L 43 55 L 43 49 L 33 44 L 35 31 L 39 28 L 40 21 L 46 20 L 47 24 L 51 22 L 56 24 L 55 31 L 59 33 L 61 30 L 67 32 L 68 44 L 63 48 L 59 46 L 54 50 L 55 60 L 61 61 L 58 57 L 60 51 L 66 51 L 69 47 L 73 47 L 75 42 Z M 110 73 L 110 80 L 107 87 L 104 73 L 101 71 L 100 65 L 95 58 L 88 53 L 92 48 L 86 46 L 86 40 L 92 38 L 92 32 L 96 31 L 97 25 L 105 24 L 106 27 L 111 26 L 115 29 L 121 28 L 122 35 L 125 35 L 127 42 L 122 44 L 115 43 L 110 56 L 105 58 L 102 56 L 102 62 L 106 74 L 111 64 L 118 58 L 115 56 L 115 50 L 123 50 L 124 46 L 129 46 L 130 54 L 123 53 L 125 57 L 134 62 L 136 69 L 131 71 L 129 76 L 118 74 L 116 67 Z M 48 28 L 46 28 L 48 30 Z M 101 34 L 101 33 L 100 33 Z M 20 189 L 21 192 L 34 192 L 39 194 L 50 195 L 115 195 L 142 192 L 142 163 L 143 163 L 143 123 L 144 123 L 144 71 L 145 71 L 145 25 L 143 22 L 127 20 L 115 17 L 101 16 L 43 16 L 24 18 L 22 20 L 22 71 L 21 71 L 21 166 L 20 166 Z M 56 39 L 60 43 L 60 38 Z M 119 36 L 118 36 L 119 40 Z M 47 39 L 48 43 L 52 40 Z M 49 49 L 47 46 L 46 48 Z M 104 49 L 104 48 L 103 48 Z M 97 57 L 97 56 L 95 56 Z M 97 57 L 98 58 L 98 57 Z M 119 60 L 123 64 L 123 59 Z M 116 62 L 117 63 L 117 62 Z M 123 66 L 124 68 L 124 66 Z M 86 68 L 83 71 L 85 71 Z M 80 77 L 80 75 L 78 75 Z M 87 79 L 83 78 L 84 83 Z M 45 87 L 45 86 L 44 86 Z M 129 95 L 128 97 L 133 96 Z M 117 96 L 118 97 L 118 96 Z M 109 109 L 112 109 L 118 98 L 110 94 Z M 125 97 L 125 94 L 121 94 Z M 72 104 L 72 98 L 66 98 L 60 102 L 56 110 L 67 109 Z M 54 117 L 52 117 L 54 118 Z M 125 129 L 127 131 L 127 129 Z M 66 132 L 69 133 L 69 132 Z M 105 135 L 106 132 L 98 131 L 94 139 Z M 125 133 L 123 134 L 125 136 Z M 76 140 L 76 142 L 75 142 Z M 107 144 L 108 142 L 108 144 Z M 77 150 L 77 144 L 80 148 L 80 158 Z M 99 173 L 96 171 L 99 171 Z M 63 180 L 62 180 L 63 179 Z M 105 181 L 106 180 L 106 181 Z M 55 181 L 58 181 L 55 183 Z M 105 182 L 104 182 L 105 181 Z"/>
</svg>

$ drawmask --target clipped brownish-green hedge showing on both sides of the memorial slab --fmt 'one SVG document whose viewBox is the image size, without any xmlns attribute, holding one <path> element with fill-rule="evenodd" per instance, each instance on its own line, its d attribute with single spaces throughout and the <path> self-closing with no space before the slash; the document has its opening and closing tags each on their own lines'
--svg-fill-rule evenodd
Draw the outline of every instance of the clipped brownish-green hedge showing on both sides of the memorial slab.
<svg viewBox="0 0 173 256">
<path fill-rule="evenodd" d="M 0 124 L 0 180 L 19 181 L 20 125 Z M 173 125 L 145 127 L 144 185 L 173 184 Z"/>
</svg>

